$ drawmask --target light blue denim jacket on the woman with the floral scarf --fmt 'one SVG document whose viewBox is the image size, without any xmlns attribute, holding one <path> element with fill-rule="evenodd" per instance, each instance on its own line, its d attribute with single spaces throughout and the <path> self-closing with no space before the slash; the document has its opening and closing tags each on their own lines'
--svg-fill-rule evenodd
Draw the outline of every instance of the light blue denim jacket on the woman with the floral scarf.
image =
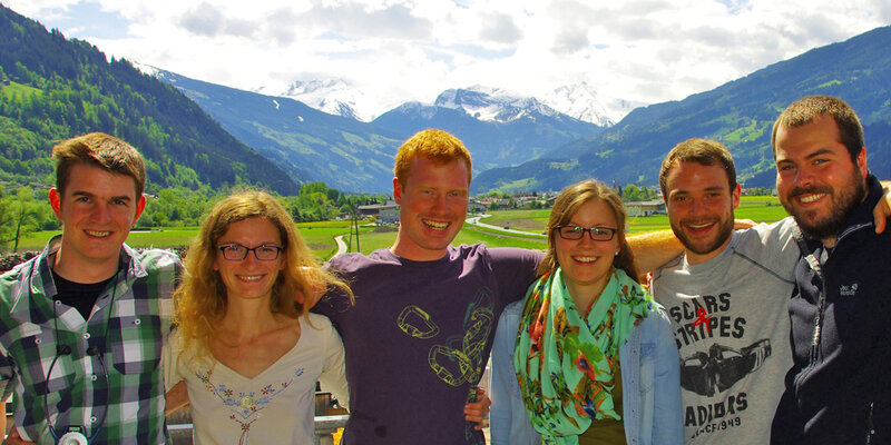
<svg viewBox="0 0 891 445">
<path fill-rule="evenodd" d="M 513 348 L 523 300 L 505 308 L 492 346 L 489 412 L 492 445 L 537 445 L 539 435 L 522 405 Z M 677 345 L 665 309 L 650 314 L 619 348 L 623 419 L 629 445 L 684 443 Z"/>
</svg>

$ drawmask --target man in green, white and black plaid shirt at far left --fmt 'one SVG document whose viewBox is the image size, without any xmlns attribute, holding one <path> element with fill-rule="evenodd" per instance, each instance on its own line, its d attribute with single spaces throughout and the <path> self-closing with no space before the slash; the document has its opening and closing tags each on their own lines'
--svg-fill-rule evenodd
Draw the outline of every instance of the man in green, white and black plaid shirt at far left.
<svg viewBox="0 0 891 445">
<path fill-rule="evenodd" d="M 62 234 L 0 276 L 0 399 L 16 395 L 9 443 L 67 433 L 167 443 L 159 362 L 182 265 L 124 244 L 145 208 L 143 158 L 104 134 L 62 141 L 52 157 Z"/>
</svg>

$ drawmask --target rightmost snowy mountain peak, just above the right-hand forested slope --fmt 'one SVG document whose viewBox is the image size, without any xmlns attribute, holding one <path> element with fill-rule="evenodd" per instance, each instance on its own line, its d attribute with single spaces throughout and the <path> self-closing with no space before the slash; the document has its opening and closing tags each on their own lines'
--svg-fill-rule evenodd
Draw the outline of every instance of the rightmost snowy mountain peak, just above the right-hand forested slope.
<svg viewBox="0 0 891 445">
<path fill-rule="evenodd" d="M 646 105 L 601 95 L 587 82 L 556 88 L 541 101 L 565 115 L 601 127 L 610 127 L 633 109 Z"/>
</svg>

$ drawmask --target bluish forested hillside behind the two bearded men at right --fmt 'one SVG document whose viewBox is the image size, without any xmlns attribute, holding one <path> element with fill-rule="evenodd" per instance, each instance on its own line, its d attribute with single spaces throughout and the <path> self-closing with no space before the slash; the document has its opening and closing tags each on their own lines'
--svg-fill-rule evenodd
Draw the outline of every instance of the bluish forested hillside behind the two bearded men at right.
<svg viewBox="0 0 891 445">
<path fill-rule="evenodd" d="M 870 169 L 891 177 L 891 27 L 807 51 L 681 101 L 631 111 L 593 138 L 568 144 L 517 167 L 473 179 L 473 192 L 491 189 L 559 190 L 595 177 L 607 182 L 655 185 L 663 158 L 693 137 L 721 140 L 747 187 L 773 187 L 773 122 L 792 101 L 836 96 L 860 116 Z M 656 69 L 656 68 L 654 68 Z"/>
</svg>

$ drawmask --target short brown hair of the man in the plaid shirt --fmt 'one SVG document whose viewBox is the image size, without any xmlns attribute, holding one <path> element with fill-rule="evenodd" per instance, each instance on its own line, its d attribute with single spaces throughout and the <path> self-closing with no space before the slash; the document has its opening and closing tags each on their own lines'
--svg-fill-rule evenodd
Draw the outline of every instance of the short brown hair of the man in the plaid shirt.
<svg viewBox="0 0 891 445">
<path fill-rule="evenodd" d="M 71 169 L 78 164 L 131 177 L 137 199 L 143 196 L 146 187 L 143 156 L 129 144 L 104 132 L 90 132 L 63 140 L 52 147 L 52 158 L 56 159 L 56 190 L 59 194 L 65 194 Z"/>
</svg>

